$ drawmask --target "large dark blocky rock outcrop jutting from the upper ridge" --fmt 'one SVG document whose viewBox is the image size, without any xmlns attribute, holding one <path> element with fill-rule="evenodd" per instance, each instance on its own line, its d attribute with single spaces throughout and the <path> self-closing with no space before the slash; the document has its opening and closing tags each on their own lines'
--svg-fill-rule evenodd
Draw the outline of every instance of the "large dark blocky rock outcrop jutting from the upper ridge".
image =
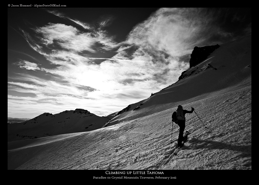
<svg viewBox="0 0 259 185">
<path fill-rule="evenodd" d="M 207 57 L 215 51 L 215 49 L 218 49 L 219 45 L 214 45 L 214 46 L 204 46 L 204 47 L 197 47 L 195 46 L 193 49 L 193 52 L 191 54 L 191 59 L 190 59 L 190 68 L 193 66 L 196 66 L 200 62 L 204 61 L 207 59 Z"/>
</svg>

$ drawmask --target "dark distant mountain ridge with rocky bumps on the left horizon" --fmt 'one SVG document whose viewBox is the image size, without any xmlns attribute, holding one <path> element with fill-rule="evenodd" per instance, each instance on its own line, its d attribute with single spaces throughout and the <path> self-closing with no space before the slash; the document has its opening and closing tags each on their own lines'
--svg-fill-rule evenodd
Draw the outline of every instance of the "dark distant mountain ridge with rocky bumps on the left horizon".
<svg viewBox="0 0 259 185">
<path fill-rule="evenodd" d="M 23 139 L 76 133 L 101 128 L 109 119 L 84 109 L 60 112 L 52 115 L 43 113 L 33 119 L 8 125 L 8 142 Z"/>
</svg>

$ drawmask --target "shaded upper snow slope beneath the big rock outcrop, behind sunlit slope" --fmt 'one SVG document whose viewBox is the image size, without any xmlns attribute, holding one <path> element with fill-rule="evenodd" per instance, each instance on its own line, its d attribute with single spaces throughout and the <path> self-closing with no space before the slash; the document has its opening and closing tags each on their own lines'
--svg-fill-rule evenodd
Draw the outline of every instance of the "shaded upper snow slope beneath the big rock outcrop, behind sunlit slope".
<svg viewBox="0 0 259 185">
<path fill-rule="evenodd" d="M 198 65 L 186 70 L 175 84 L 129 105 L 129 111 L 107 125 L 148 116 L 163 110 L 251 85 L 251 35 L 222 44 Z M 136 109 L 136 110 L 134 110 Z"/>
</svg>

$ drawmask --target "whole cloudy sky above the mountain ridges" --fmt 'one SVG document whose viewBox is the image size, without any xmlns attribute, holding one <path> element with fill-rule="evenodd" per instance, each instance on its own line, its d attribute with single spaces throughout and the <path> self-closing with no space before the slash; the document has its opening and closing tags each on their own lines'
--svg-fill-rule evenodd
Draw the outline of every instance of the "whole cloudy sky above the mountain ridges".
<svg viewBox="0 0 259 185">
<path fill-rule="evenodd" d="M 8 117 L 107 116 L 175 83 L 195 46 L 251 34 L 251 8 L 8 8 Z"/>
</svg>

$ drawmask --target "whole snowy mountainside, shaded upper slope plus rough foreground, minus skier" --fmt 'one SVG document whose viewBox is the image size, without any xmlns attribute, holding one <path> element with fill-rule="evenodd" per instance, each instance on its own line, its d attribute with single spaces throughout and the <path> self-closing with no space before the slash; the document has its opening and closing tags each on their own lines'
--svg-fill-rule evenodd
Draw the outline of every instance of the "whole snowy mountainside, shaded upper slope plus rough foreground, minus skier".
<svg viewBox="0 0 259 185">
<path fill-rule="evenodd" d="M 103 128 L 8 142 L 8 169 L 146 172 L 136 177 L 147 170 L 251 169 L 251 93 L 250 35 L 220 45 L 175 84 L 109 115 Z M 190 135 L 174 155 L 179 128 L 171 115 L 178 105 L 195 113 L 186 114 Z"/>
</svg>

